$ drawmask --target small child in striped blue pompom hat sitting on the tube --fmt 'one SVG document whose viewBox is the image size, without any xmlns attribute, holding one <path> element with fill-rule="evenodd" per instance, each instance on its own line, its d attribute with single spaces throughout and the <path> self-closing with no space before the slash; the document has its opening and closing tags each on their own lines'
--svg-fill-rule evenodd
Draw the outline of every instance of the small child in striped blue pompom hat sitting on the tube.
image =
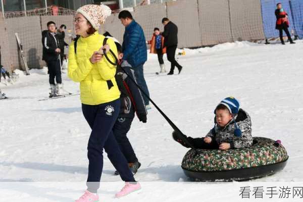
<svg viewBox="0 0 303 202">
<path fill-rule="evenodd" d="M 227 97 L 217 105 L 215 126 L 206 137 L 192 138 L 179 135 L 198 149 L 248 148 L 252 145 L 251 121 L 249 115 L 239 107 L 237 99 Z M 173 138 L 181 145 L 190 147 L 176 132 L 173 132 Z"/>
</svg>

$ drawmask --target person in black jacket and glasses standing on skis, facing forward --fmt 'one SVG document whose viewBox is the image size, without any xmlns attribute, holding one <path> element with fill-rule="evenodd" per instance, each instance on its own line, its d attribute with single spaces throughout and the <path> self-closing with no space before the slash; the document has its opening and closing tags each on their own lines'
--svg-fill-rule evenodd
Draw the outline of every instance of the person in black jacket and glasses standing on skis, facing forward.
<svg viewBox="0 0 303 202">
<path fill-rule="evenodd" d="M 48 74 L 49 74 L 49 84 L 51 85 L 51 95 L 58 96 L 61 94 L 61 64 L 60 64 L 60 52 L 61 49 L 59 40 L 55 34 L 56 24 L 53 21 L 49 21 L 47 23 L 48 30 L 42 32 L 42 44 L 43 44 L 43 56 L 42 60 L 44 60 L 47 64 Z M 55 85 L 55 78 L 57 84 Z"/>
</svg>

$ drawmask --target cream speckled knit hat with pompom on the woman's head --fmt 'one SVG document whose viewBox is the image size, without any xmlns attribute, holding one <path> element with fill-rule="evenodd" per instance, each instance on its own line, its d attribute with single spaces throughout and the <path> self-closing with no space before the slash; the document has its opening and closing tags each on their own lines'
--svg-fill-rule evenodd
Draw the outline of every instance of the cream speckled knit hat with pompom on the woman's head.
<svg viewBox="0 0 303 202">
<path fill-rule="evenodd" d="M 112 14 L 110 7 L 106 5 L 85 5 L 77 10 L 77 13 L 82 14 L 92 25 L 95 30 L 98 30 L 100 25 L 105 23 L 107 17 Z"/>
</svg>

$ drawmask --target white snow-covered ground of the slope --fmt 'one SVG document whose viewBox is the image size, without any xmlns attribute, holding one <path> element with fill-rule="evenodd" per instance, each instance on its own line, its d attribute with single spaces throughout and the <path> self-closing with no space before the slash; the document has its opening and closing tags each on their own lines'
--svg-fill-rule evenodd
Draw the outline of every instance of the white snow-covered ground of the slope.
<svg viewBox="0 0 303 202">
<path fill-rule="evenodd" d="M 205 136 L 213 127 L 216 105 L 227 96 L 235 96 L 251 116 L 253 135 L 281 139 L 289 155 L 283 171 L 254 183 L 303 182 L 302 49 L 303 41 L 284 46 L 236 42 L 185 49 L 186 55 L 179 56 L 182 73 L 173 76 L 157 76 L 157 56 L 148 55 L 145 79 L 151 98 L 192 137 Z M 165 63 L 169 70 L 168 61 Z M 46 72 L 31 70 L 30 76 L 20 75 L 15 85 L 0 84 L 9 97 L 0 101 L 0 192 L 15 195 L 13 201 L 72 201 L 85 189 L 90 128 L 78 95 L 38 102 L 48 94 Z M 65 89 L 77 93 L 79 84 L 66 74 L 63 78 Z M 140 195 L 129 196 L 130 200 L 153 201 L 153 192 L 155 197 L 159 194 L 158 201 L 222 200 L 222 195 L 205 197 L 207 192 L 199 190 L 222 188 L 224 183 L 186 183 L 190 180 L 180 165 L 188 149 L 172 140 L 172 128 L 155 108 L 148 111 L 147 119 L 146 124 L 135 119 L 128 137 L 142 164 L 135 178 L 143 185 L 150 184 L 146 184 L 145 193 L 143 189 Z M 105 155 L 100 194 L 107 201 L 123 185 L 113 173 Z M 63 182 L 70 187 L 61 187 Z M 49 194 L 46 187 L 53 188 Z M 64 190 L 69 192 L 65 197 L 52 194 L 60 195 Z M 186 197 L 187 192 L 190 197 Z M 179 197 L 171 197 L 174 194 Z"/>
</svg>

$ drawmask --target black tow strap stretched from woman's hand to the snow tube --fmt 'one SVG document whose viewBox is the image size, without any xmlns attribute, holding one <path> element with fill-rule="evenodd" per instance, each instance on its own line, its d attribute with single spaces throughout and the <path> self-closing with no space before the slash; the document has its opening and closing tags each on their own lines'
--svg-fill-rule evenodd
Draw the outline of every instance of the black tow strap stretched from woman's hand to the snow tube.
<svg viewBox="0 0 303 202">
<path fill-rule="evenodd" d="M 112 62 L 106 53 L 106 49 L 103 49 L 103 53 L 105 58 L 107 59 L 107 61 L 109 61 L 109 63 L 111 63 L 112 65 L 117 66 L 118 65 L 118 58 L 116 57 L 116 55 L 114 54 L 114 52 L 112 51 L 112 49 L 110 49 L 110 53 L 112 54 L 112 56 L 115 59 L 115 62 Z M 121 67 L 121 69 L 123 70 L 123 72 L 128 76 L 128 78 L 130 78 L 130 80 L 140 89 L 140 91 L 148 98 L 148 100 L 153 103 L 153 105 L 155 106 L 155 108 L 160 112 L 160 114 L 165 118 L 165 120 L 169 123 L 169 125 L 174 129 L 175 134 L 178 136 L 179 139 L 181 139 L 182 141 L 185 142 L 185 144 L 187 144 L 189 147 L 195 149 L 195 147 L 186 139 L 184 138 L 184 134 L 181 132 L 181 130 L 166 116 L 166 114 L 164 114 L 164 112 L 156 105 L 156 103 L 153 101 L 153 99 L 151 99 L 145 92 L 144 90 L 142 90 L 142 88 L 137 84 L 136 81 L 134 81 L 134 79 L 124 70 L 123 67 Z"/>
</svg>

